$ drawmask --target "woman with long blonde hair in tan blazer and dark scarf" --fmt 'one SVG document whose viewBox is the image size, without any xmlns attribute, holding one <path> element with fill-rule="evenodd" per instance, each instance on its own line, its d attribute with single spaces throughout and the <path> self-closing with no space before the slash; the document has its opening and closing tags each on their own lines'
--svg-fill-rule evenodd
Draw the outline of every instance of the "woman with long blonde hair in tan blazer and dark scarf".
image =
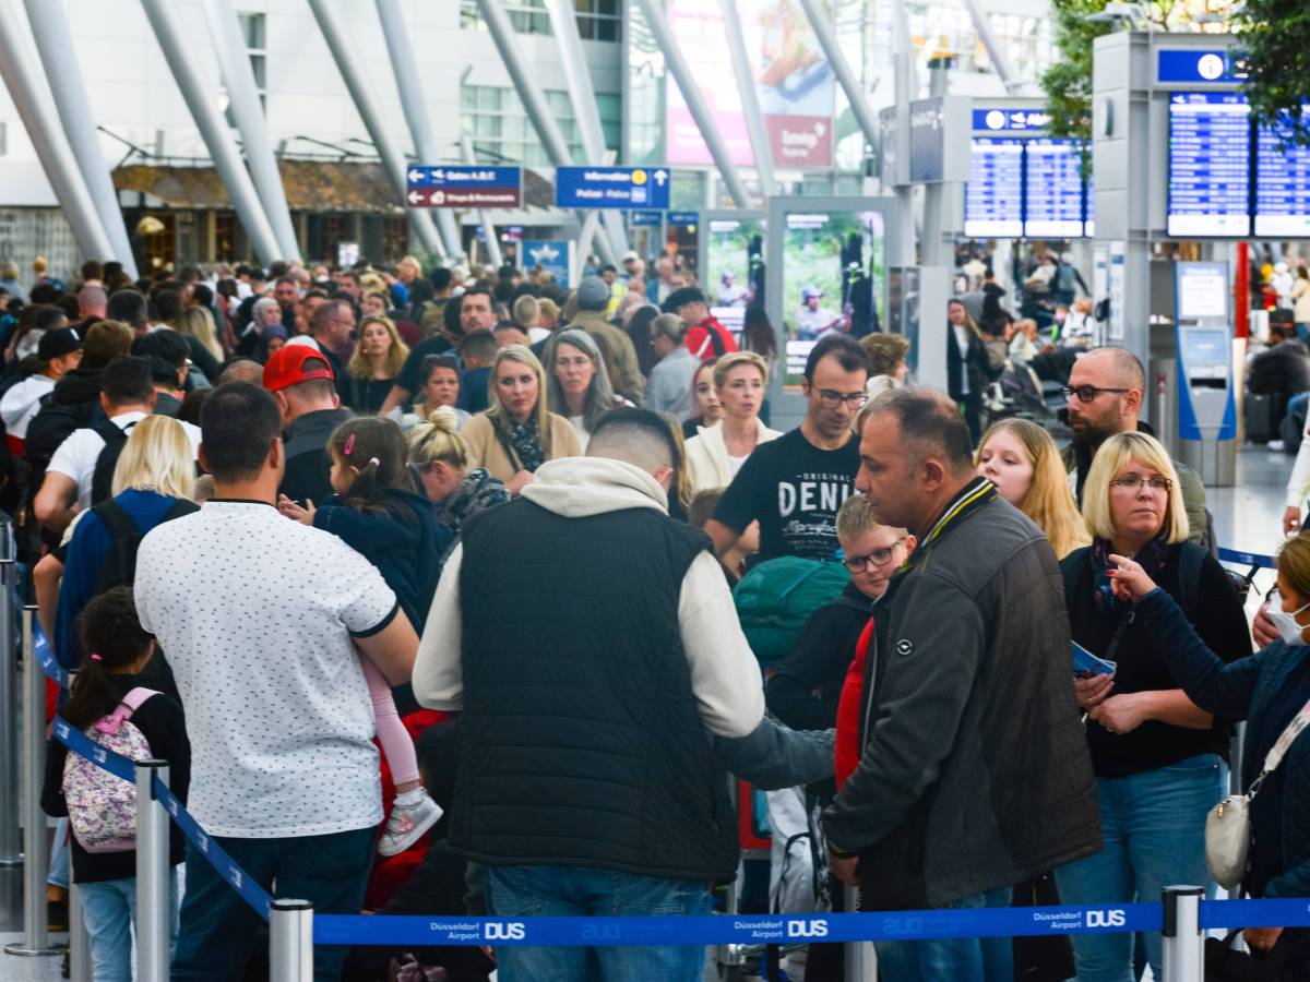
<svg viewBox="0 0 1310 982">
<path fill-rule="evenodd" d="M 546 376 L 523 344 L 498 348 L 487 386 L 489 407 L 464 427 L 474 466 L 486 467 L 519 494 L 537 467 L 557 457 L 578 457 L 578 433 L 549 410 Z"/>
</svg>

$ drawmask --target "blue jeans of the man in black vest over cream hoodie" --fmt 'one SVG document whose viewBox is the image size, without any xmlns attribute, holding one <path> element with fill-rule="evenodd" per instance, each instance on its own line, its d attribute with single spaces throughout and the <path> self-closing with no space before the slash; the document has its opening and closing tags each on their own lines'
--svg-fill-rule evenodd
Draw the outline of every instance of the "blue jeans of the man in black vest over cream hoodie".
<svg viewBox="0 0 1310 982">
<path fill-rule="evenodd" d="M 559 865 L 487 867 L 491 917 L 646 917 L 710 913 L 709 882 Z M 701 945 L 495 949 L 500 982 L 701 982 Z"/>
</svg>

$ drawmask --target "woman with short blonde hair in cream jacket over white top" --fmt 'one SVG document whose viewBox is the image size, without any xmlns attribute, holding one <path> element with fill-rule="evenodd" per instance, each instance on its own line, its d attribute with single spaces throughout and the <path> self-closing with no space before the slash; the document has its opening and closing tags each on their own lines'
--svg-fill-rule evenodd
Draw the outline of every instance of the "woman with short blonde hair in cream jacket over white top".
<svg viewBox="0 0 1310 982">
<path fill-rule="evenodd" d="M 736 351 L 714 363 L 714 390 L 723 418 L 698 427 L 686 441 L 686 466 L 693 491 L 727 487 L 756 446 L 782 433 L 760 420 L 769 389 L 769 367 L 753 351 Z"/>
</svg>

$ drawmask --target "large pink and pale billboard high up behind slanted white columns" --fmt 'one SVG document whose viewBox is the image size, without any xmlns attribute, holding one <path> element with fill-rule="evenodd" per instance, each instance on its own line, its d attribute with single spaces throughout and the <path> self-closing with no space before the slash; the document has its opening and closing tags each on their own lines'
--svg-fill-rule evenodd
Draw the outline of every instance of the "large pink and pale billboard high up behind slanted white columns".
<svg viewBox="0 0 1310 982">
<path fill-rule="evenodd" d="M 765 131 L 779 168 L 831 168 L 836 76 L 798 0 L 736 0 Z M 751 166 L 751 137 L 724 39 L 723 12 L 706 0 L 668 0 L 668 24 L 728 147 Z M 665 81 L 668 164 L 711 164 L 681 89 Z"/>
</svg>

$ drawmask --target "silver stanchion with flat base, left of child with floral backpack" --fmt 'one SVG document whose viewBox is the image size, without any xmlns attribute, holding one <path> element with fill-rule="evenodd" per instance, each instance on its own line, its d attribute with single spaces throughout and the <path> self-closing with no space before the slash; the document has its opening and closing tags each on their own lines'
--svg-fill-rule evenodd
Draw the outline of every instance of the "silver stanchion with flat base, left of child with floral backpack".
<svg viewBox="0 0 1310 982">
<path fill-rule="evenodd" d="M 9 955 L 58 955 L 46 932 L 46 813 L 41 786 L 46 778 L 46 676 L 31 646 L 37 608 L 22 609 L 22 940 L 7 944 Z"/>
</svg>

